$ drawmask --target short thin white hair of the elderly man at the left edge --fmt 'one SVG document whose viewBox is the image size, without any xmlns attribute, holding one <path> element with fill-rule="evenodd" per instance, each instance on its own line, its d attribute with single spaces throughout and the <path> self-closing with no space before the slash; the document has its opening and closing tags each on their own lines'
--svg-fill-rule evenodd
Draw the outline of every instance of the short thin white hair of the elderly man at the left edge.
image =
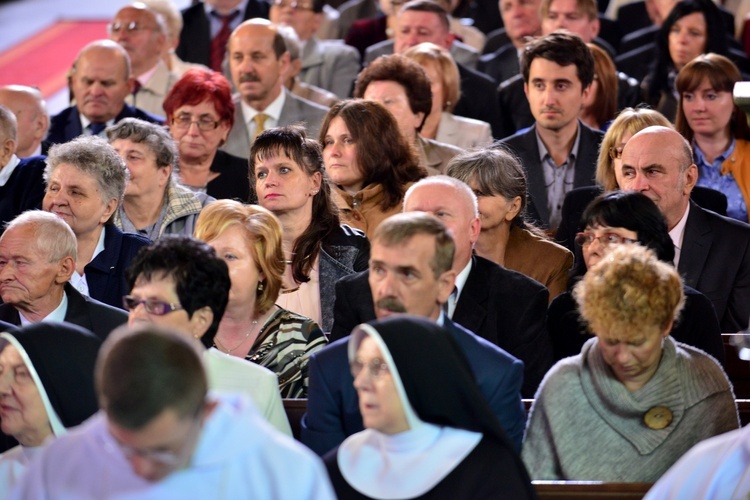
<svg viewBox="0 0 750 500">
<path fill-rule="evenodd" d="M 5 225 L 8 234 L 11 229 L 29 226 L 34 230 L 30 244 L 47 254 L 49 262 L 57 262 L 65 257 L 78 260 L 78 240 L 70 226 L 61 218 L 44 210 L 27 210 Z M 2 241 L 2 236 L 0 236 Z"/>
</svg>

